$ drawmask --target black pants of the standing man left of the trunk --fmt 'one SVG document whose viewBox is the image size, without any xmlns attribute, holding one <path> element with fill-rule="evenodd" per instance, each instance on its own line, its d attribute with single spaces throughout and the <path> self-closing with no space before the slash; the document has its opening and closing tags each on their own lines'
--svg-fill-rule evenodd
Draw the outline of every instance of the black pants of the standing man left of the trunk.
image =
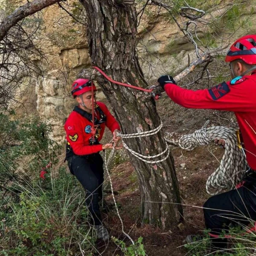
<svg viewBox="0 0 256 256">
<path fill-rule="evenodd" d="M 99 200 L 104 181 L 103 160 L 99 153 L 73 156 L 69 161 L 70 172 L 76 176 L 86 191 L 86 205 L 92 216 L 92 224 L 102 224 Z"/>
</svg>

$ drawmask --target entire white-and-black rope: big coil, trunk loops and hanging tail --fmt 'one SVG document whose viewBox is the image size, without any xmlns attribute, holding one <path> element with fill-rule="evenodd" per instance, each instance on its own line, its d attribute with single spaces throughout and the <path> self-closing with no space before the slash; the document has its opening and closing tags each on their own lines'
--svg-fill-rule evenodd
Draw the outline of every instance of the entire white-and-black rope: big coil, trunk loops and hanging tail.
<svg viewBox="0 0 256 256">
<path fill-rule="evenodd" d="M 237 145 L 237 137 L 236 137 L 236 129 L 235 128 L 229 128 L 224 126 L 211 126 L 206 127 L 209 124 L 209 121 L 205 123 L 205 125 L 199 129 L 196 130 L 192 134 L 183 135 L 180 137 L 178 142 L 175 141 L 169 141 L 174 145 L 180 146 L 180 148 L 183 148 L 185 150 L 193 150 L 198 145 L 208 145 L 212 140 L 215 139 L 222 139 L 225 141 L 225 152 L 221 159 L 221 163 L 218 166 L 218 168 L 213 172 L 207 179 L 206 183 L 206 190 L 207 193 L 210 195 L 217 195 L 224 190 L 227 189 L 233 189 L 235 188 L 236 184 L 238 184 L 242 177 L 244 176 L 244 173 L 248 169 L 246 158 L 243 154 L 243 151 L 239 148 Z M 151 136 L 154 134 L 157 134 L 157 132 L 160 131 L 163 124 L 162 122 L 160 125 L 151 131 L 145 131 L 140 133 L 134 133 L 134 134 L 117 134 L 121 138 L 137 138 L 137 137 L 144 137 L 144 136 Z M 169 157 L 169 146 L 166 143 L 166 149 L 161 152 L 160 154 L 154 155 L 154 156 L 144 156 L 142 154 L 139 154 L 136 151 L 133 151 L 131 148 L 128 147 L 124 142 L 122 142 L 124 147 L 131 152 L 135 157 L 139 158 L 140 160 L 146 162 L 146 163 L 160 163 Z M 105 171 L 108 174 L 110 185 L 111 185 L 111 193 L 113 197 L 113 201 L 116 208 L 116 213 L 118 215 L 118 218 L 120 220 L 121 226 L 122 226 L 122 233 L 131 241 L 131 243 L 134 245 L 133 239 L 124 231 L 124 224 L 122 222 L 122 218 L 119 214 L 118 207 L 116 205 L 115 196 L 113 193 L 113 185 L 110 173 L 108 171 L 108 165 L 113 157 L 115 148 L 111 150 L 111 153 L 108 157 L 108 160 L 106 158 L 106 154 L 104 153 L 104 163 L 105 163 Z M 166 157 L 164 157 L 161 160 L 157 161 L 148 161 L 146 159 L 160 157 L 161 155 L 165 154 L 167 151 Z M 137 256 L 137 253 L 136 253 Z"/>
</svg>

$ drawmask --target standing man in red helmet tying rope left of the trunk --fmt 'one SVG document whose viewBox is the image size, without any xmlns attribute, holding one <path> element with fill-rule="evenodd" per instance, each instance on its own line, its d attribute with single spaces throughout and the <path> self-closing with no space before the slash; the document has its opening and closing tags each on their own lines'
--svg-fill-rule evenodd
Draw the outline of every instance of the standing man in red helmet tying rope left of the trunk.
<svg viewBox="0 0 256 256">
<path fill-rule="evenodd" d="M 92 92 L 93 87 L 93 92 Z M 103 160 L 99 151 L 112 148 L 112 143 L 118 143 L 120 130 L 116 119 L 102 102 L 94 102 L 96 87 L 88 79 L 77 79 L 72 85 L 72 95 L 78 105 L 70 113 L 64 129 L 67 134 L 66 160 L 70 172 L 76 176 L 86 191 L 86 204 L 92 217 L 92 222 L 100 239 L 108 240 L 108 231 L 102 225 L 99 209 L 99 199 L 102 198 Z M 93 102 L 94 128 L 93 137 Z M 105 126 L 113 133 L 112 143 L 100 144 Z"/>
</svg>

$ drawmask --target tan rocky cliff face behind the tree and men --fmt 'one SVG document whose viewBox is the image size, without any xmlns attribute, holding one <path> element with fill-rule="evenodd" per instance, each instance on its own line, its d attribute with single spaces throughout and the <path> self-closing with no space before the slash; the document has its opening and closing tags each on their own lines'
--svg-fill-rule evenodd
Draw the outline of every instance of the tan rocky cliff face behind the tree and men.
<svg viewBox="0 0 256 256">
<path fill-rule="evenodd" d="M 221 1 L 218 2 L 221 3 Z M 0 0 L 0 5 L 3 3 L 9 4 L 9 7 L 10 5 L 18 7 L 27 2 L 22 0 Z M 78 1 L 67 1 L 67 4 L 81 9 Z M 227 6 L 228 4 L 221 4 L 220 8 L 215 11 L 216 13 L 212 12 L 206 15 L 206 18 L 213 19 L 227 12 Z M 253 6 L 253 1 L 251 3 L 248 1 L 246 5 L 247 14 L 251 6 Z M 80 13 L 78 8 L 71 8 L 68 5 L 66 8 L 73 15 Z M 196 58 L 194 45 L 188 42 L 177 24 L 169 17 L 166 18 L 166 14 L 157 18 L 156 10 L 151 9 L 150 11 L 141 20 L 138 28 L 137 46 L 141 66 L 145 78 L 149 82 L 154 81 L 159 75 L 177 73 L 186 67 L 189 61 L 191 62 Z M 250 26 L 249 32 L 256 33 L 255 11 L 251 10 L 250 15 L 252 26 Z M 77 23 L 57 4 L 44 9 L 43 12 L 34 17 L 41 21 L 40 30 L 35 35 L 34 41 L 44 58 L 37 53 L 30 54 L 28 58 L 38 64 L 43 72 L 40 74 L 26 74 L 23 77 L 23 84 L 19 88 L 16 99 L 25 106 L 27 111 L 36 110 L 41 119 L 51 123 L 53 126 L 52 138 L 61 143 L 64 141 L 64 120 L 75 105 L 70 96 L 72 81 L 76 79 L 79 70 L 90 67 L 86 26 Z M 245 16 L 242 19 L 245 19 Z M 183 21 L 186 20 L 183 19 Z M 209 33 L 213 31 L 209 27 L 203 26 L 203 24 L 199 25 L 198 38 L 205 40 L 203 32 L 206 29 Z M 195 26 L 191 26 L 189 31 L 194 34 L 194 29 Z M 219 29 L 218 33 L 221 34 L 221 28 Z M 238 30 L 229 39 L 230 42 L 237 35 L 243 33 L 241 29 Z M 218 41 L 218 43 L 220 42 Z M 100 97 L 103 96 L 102 93 L 99 95 Z M 100 100 L 100 97 L 98 96 L 98 100 Z M 20 108 L 20 105 L 12 102 L 12 107 Z"/>
</svg>

